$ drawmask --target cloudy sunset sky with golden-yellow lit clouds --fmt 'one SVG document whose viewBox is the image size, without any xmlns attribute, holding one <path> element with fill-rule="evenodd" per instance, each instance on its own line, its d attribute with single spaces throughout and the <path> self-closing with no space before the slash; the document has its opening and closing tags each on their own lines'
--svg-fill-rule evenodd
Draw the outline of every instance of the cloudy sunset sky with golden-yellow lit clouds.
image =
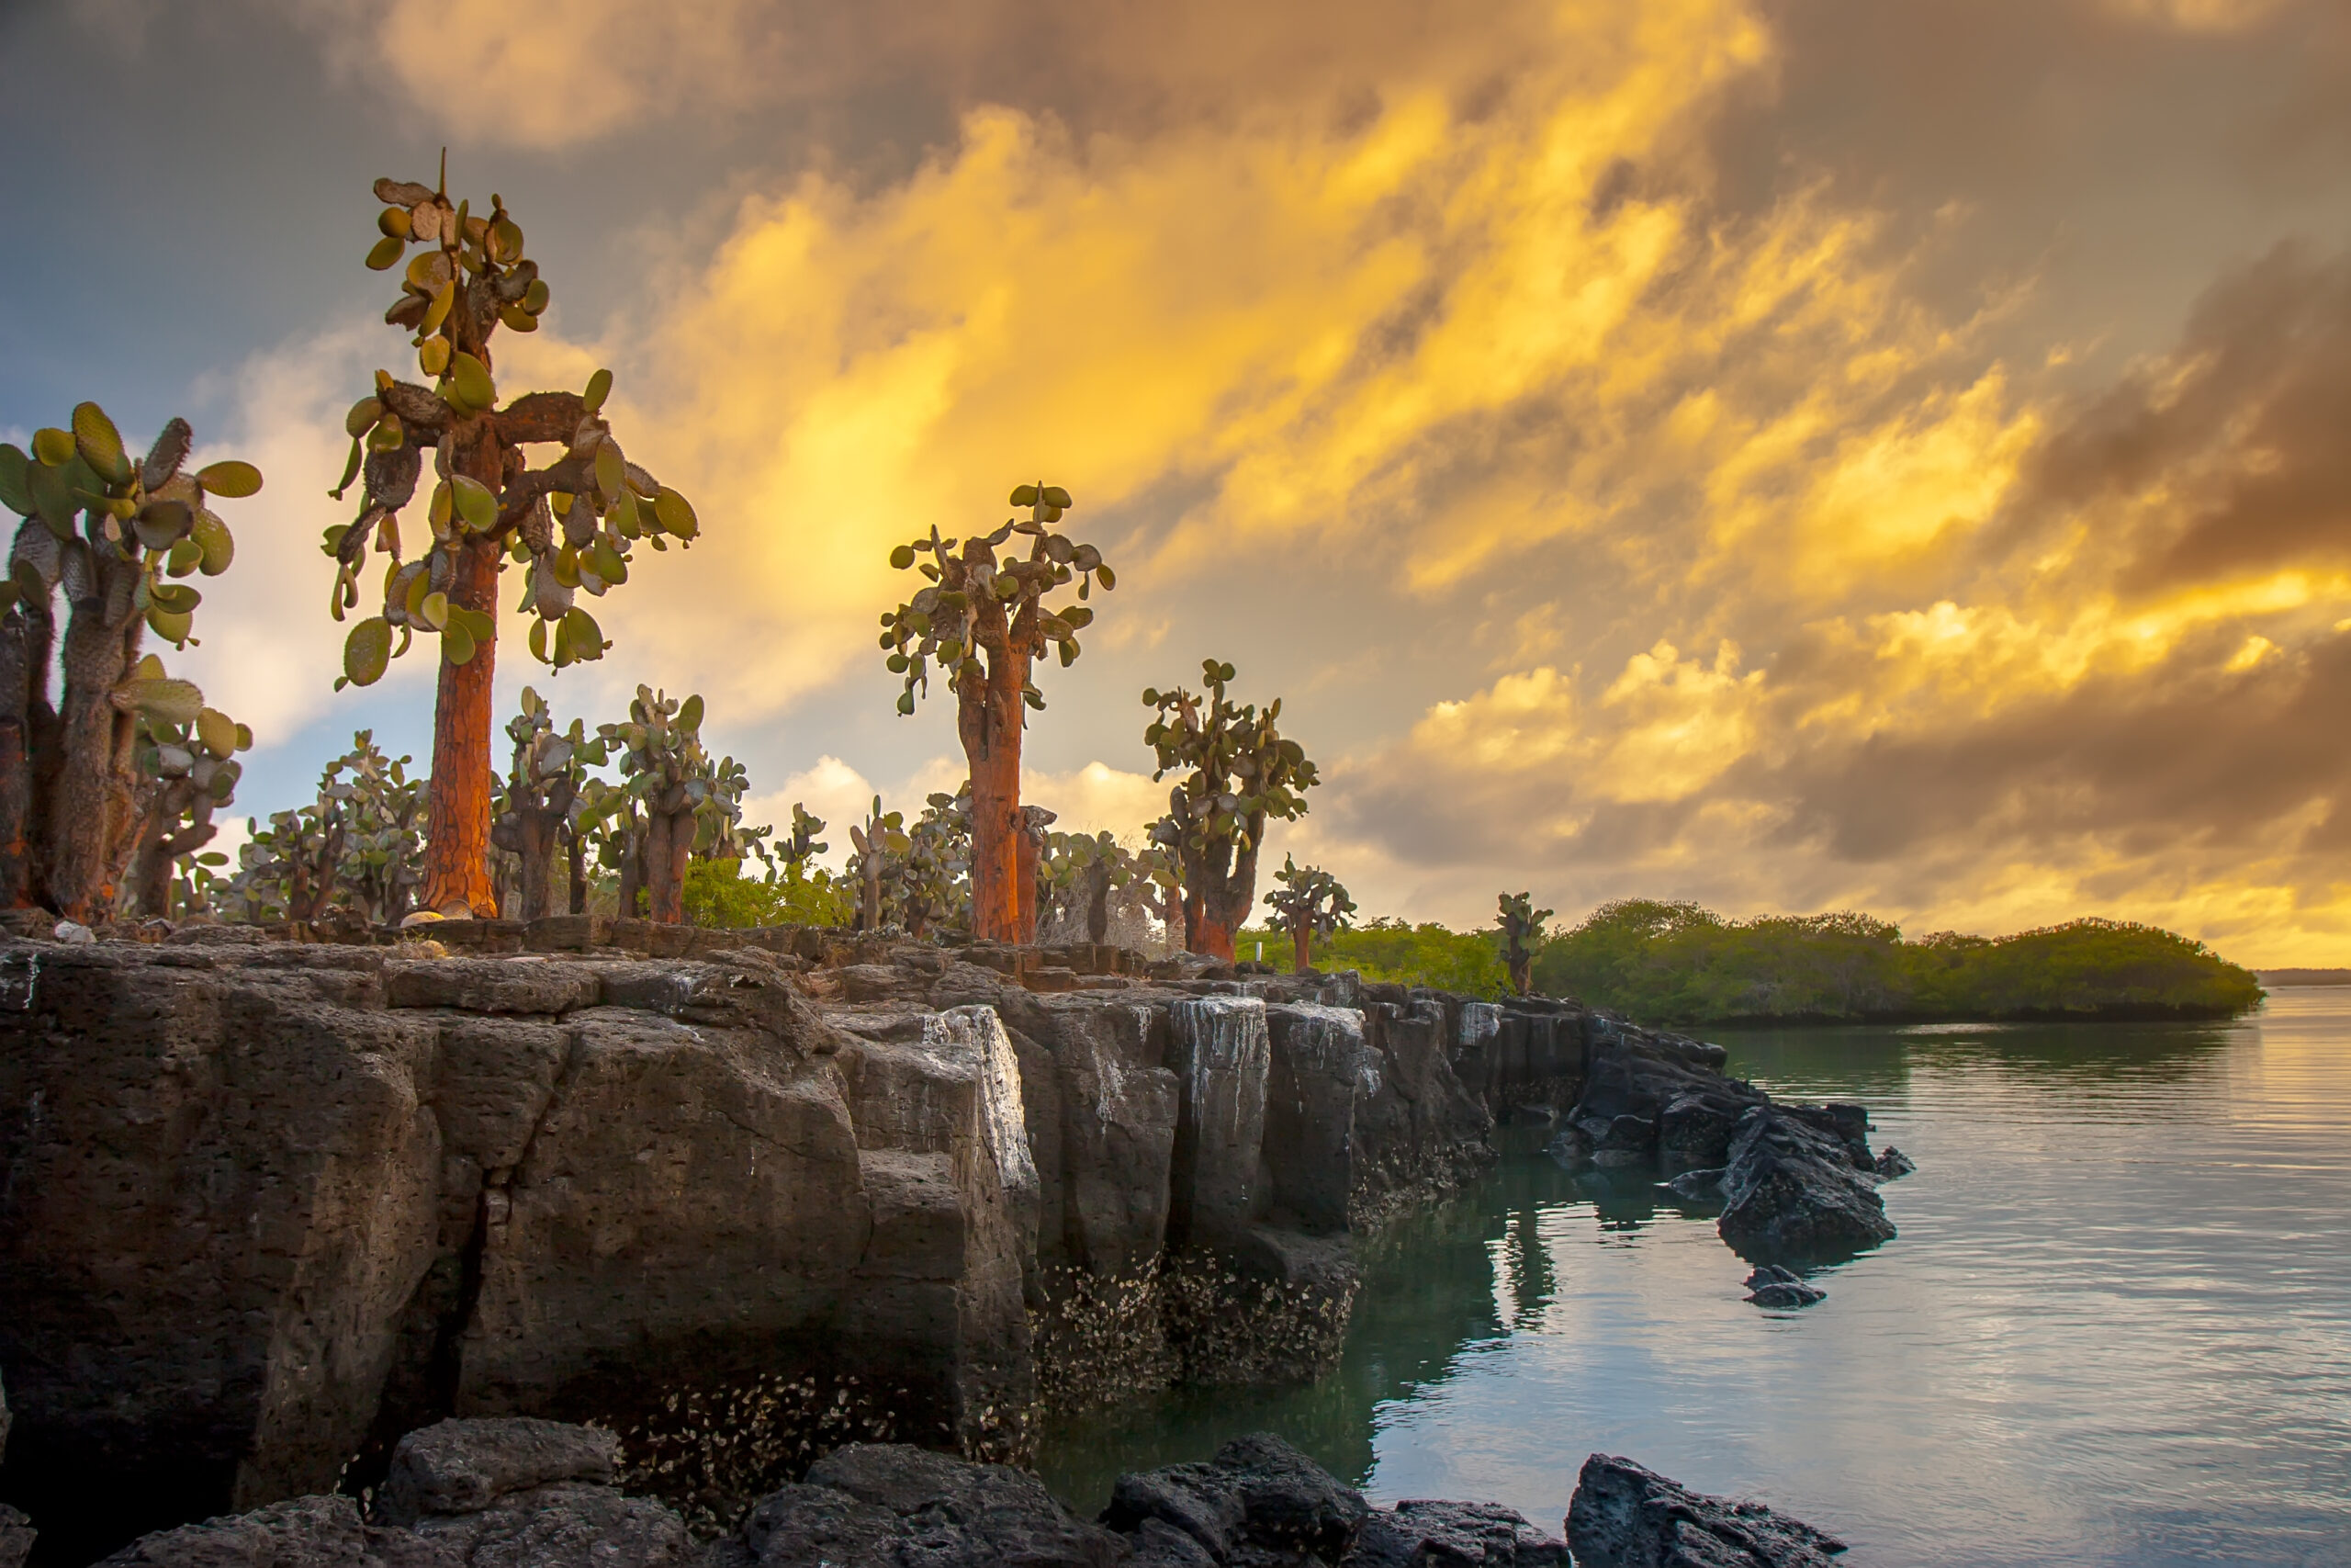
<svg viewBox="0 0 2351 1568">
<path fill-rule="evenodd" d="M 2351 964 L 2342 0 L 0 0 L 0 435 L 261 465 L 202 646 L 237 813 L 334 693 L 343 409 L 407 362 L 379 174 L 496 190 L 703 538 L 562 719 L 701 691 L 752 820 L 919 809 L 889 548 L 1063 484 L 1117 592 L 1027 797 L 1164 809 L 1145 686 L 1321 764 L 1366 914 L 1610 898 L 2142 919 Z M 513 595 L 510 595 L 513 597 Z"/>
</svg>

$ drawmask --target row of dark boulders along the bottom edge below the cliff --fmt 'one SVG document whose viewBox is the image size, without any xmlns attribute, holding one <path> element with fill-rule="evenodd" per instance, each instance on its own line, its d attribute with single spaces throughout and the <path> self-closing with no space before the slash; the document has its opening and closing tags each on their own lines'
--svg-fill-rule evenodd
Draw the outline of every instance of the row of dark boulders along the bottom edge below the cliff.
<svg viewBox="0 0 2351 1568">
<path fill-rule="evenodd" d="M 1119 1476 L 1093 1521 L 1037 1476 L 849 1443 L 710 1540 L 616 1481 L 614 1434 L 449 1420 L 402 1439 L 383 1488 L 158 1530 L 103 1568 L 1817 1568 L 1846 1547 L 1756 1502 L 1594 1453 L 1566 1540 L 1493 1502 L 1375 1509 L 1279 1436 Z"/>
</svg>

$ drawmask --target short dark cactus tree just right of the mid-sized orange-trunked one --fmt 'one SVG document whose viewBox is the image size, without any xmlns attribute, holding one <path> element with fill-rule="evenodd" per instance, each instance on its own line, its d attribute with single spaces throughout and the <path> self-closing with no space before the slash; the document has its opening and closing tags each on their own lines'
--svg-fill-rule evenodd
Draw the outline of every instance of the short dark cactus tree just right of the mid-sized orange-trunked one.
<svg viewBox="0 0 2351 1568">
<path fill-rule="evenodd" d="M 1305 748 L 1277 726 L 1281 698 L 1260 715 L 1255 703 L 1225 696 L 1232 677 L 1232 665 L 1206 658 L 1206 696 L 1183 686 L 1143 693 L 1159 710 L 1143 731 L 1159 757 L 1152 778 L 1185 773 L 1168 792 L 1168 813 L 1152 827 L 1152 842 L 1183 875 L 1183 945 L 1227 961 L 1232 933 L 1258 903 L 1265 823 L 1305 816 L 1305 792 L 1321 783 Z"/>
</svg>

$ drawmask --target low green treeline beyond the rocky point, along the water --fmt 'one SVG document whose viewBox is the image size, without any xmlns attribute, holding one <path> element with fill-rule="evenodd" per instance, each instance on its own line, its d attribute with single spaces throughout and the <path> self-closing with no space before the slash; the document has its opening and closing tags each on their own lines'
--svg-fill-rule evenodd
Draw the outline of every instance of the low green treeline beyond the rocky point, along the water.
<svg viewBox="0 0 2351 1568">
<path fill-rule="evenodd" d="M 1491 931 L 1371 922 L 1314 943 L 1314 961 L 1472 994 L 1502 990 Z M 1533 980 L 1549 997 L 1676 1025 L 2233 1018 L 2262 1001 L 2252 971 L 2130 922 L 1904 940 L 1900 926 L 1869 914 L 1726 919 L 1648 898 L 1601 905 L 1542 943 Z"/>
</svg>

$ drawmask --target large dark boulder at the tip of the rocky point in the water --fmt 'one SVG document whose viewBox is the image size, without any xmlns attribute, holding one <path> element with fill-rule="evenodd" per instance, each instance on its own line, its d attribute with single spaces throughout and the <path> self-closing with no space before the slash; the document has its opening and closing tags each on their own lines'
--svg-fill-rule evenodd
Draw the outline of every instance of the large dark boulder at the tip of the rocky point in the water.
<svg viewBox="0 0 2351 1568">
<path fill-rule="evenodd" d="M 1716 1229 L 1749 1262 L 1850 1258 L 1895 1234 L 1876 1180 L 1857 1133 L 1806 1107 L 1756 1105 L 1730 1143 Z"/>
</svg>

